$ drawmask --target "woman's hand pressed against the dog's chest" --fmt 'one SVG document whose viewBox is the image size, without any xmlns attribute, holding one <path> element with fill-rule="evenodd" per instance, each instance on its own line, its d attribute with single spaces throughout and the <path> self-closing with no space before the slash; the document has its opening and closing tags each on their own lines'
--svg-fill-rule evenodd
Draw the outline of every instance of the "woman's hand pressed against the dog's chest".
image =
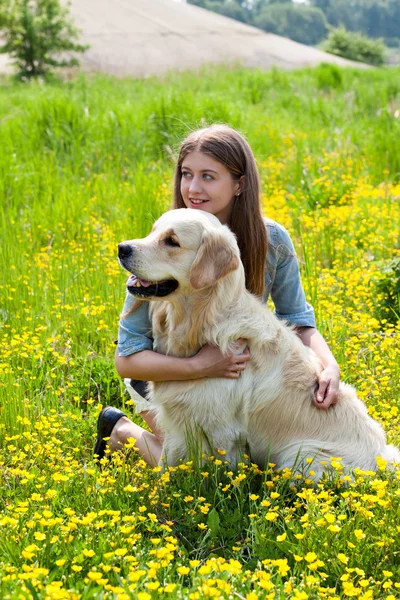
<svg viewBox="0 0 400 600">
<path fill-rule="evenodd" d="M 216 346 L 207 344 L 190 360 L 195 366 L 197 378 L 201 377 L 225 377 L 226 379 L 238 379 L 240 373 L 246 368 L 250 360 L 250 350 L 246 346 L 241 354 L 235 354 L 235 349 L 243 347 L 246 340 L 238 339 L 234 344 L 233 351 L 227 355 L 222 354 Z"/>
</svg>

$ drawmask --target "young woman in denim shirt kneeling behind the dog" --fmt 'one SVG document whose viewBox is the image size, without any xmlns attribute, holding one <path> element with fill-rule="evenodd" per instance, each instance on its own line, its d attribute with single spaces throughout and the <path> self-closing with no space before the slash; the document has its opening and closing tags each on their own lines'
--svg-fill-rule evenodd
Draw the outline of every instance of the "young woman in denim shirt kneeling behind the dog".
<svg viewBox="0 0 400 600">
<path fill-rule="evenodd" d="M 210 212 L 236 234 L 246 273 L 247 289 L 265 302 L 269 295 L 276 316 L 290 322 L 302 342 L 314 350 L 324 366 L 314 404 L 328 409 L 339 389 L 339 367 L 327 343 L 315 328 L 314 311 L 307 304 L 299 266 L 287 231 L 265 219 L 260 207 L 260 182 L 254 155 L 234 129 L 213 125 L 191 133 L 182 143 L 175 172 L 173 208 Z M 115 365 L 125 379 L 136 412 L 152 433 L 107 407 L 100 413 L 95 453 L 102 457 L 103 437 L 111 450 L 135 438 L 144 460 L 156 465 L 162 436 L 146 400 L 146 381 L 176 381 L 203 377 L 236 379 L 251 360 L 249 350 L 223 356 L 205 346 L 191 358 L 175 358 L 153 351 L 148 303 L 130 312 L 135 299 L 128 293 L 120 321 Z M 127 315 L 127 316 L 124 316 Z"/>
</svg>

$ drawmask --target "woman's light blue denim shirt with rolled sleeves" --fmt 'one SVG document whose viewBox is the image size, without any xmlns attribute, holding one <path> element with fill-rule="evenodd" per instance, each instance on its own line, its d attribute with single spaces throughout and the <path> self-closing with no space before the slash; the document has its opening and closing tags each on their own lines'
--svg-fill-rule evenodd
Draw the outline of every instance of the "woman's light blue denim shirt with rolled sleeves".
<svg viewBox="0 0 400 600">
<path fill-rule="evenodd" d="M 271 295 L 275 314 L 292 325 L 315 327 L 314 309 L 305 299 L 300 281 L 299 263 L 292 240 L 286 229 L 265 219 L 268 232 L 268 252 L 265 269 L 263 302 Z M 124 315 L 132 307 L 135 298 L 127 293 L 122 309 Z M 142 302 L 127 317 L 121 317 L 118 331 L 118 354 L 128 356 L 141 350 L 153 349 L 149 305 Z"/>
</svg>

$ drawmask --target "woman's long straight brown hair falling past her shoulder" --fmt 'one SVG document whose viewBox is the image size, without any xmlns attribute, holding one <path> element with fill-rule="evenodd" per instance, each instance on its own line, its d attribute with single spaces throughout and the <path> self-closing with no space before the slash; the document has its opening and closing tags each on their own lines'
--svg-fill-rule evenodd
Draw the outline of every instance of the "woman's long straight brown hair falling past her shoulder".
<svg viewBox="0 0 400 600">
<path fill-rule="evenodd" d="M 260 204 L 260 179 L 253 152 L 238 131 L 212 125 L 194 131 L 182 142 L 175 171 L 173 208 L 185 208 L 181 194 L 182 163 L 189 152 L 203 152 L 224 165 L 233 179 L 243 177 L 240 195 L 233 200 L 229 222 L 240 249 L 246 288 L 256 296 L 264 293 L 267 228 Z"/>
</svg>

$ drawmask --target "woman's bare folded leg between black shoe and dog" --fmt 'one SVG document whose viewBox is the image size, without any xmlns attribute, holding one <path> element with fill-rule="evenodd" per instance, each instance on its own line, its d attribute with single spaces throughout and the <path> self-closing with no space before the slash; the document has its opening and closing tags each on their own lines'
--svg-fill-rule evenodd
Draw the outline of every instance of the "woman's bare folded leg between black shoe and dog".
<svg viewBox="0 0 400 600">
<path fill-rule="evenodd" d="M 149 411 L 140 413 L 140 416 L 143 416 L 146 423 L 153 429 L 152 419 L 154 419 L 154 416 Z M 147 418 L 150 422 L 147 421 Z M 160 434 L 157 428 L 153 431 L 157 431 L 158 435 Z M 139 455 L 148 465 L 155 467 L 158 465 L 162 453 L 162 440 L 158 435 L 150 433 L 140 425 L 136 425 L 128 417 L 121 417 L 114 425 L 108 445 L 112 452 L 122 450 L 129 438 L 135 438 L 135 446 Z"/>
</svg>

